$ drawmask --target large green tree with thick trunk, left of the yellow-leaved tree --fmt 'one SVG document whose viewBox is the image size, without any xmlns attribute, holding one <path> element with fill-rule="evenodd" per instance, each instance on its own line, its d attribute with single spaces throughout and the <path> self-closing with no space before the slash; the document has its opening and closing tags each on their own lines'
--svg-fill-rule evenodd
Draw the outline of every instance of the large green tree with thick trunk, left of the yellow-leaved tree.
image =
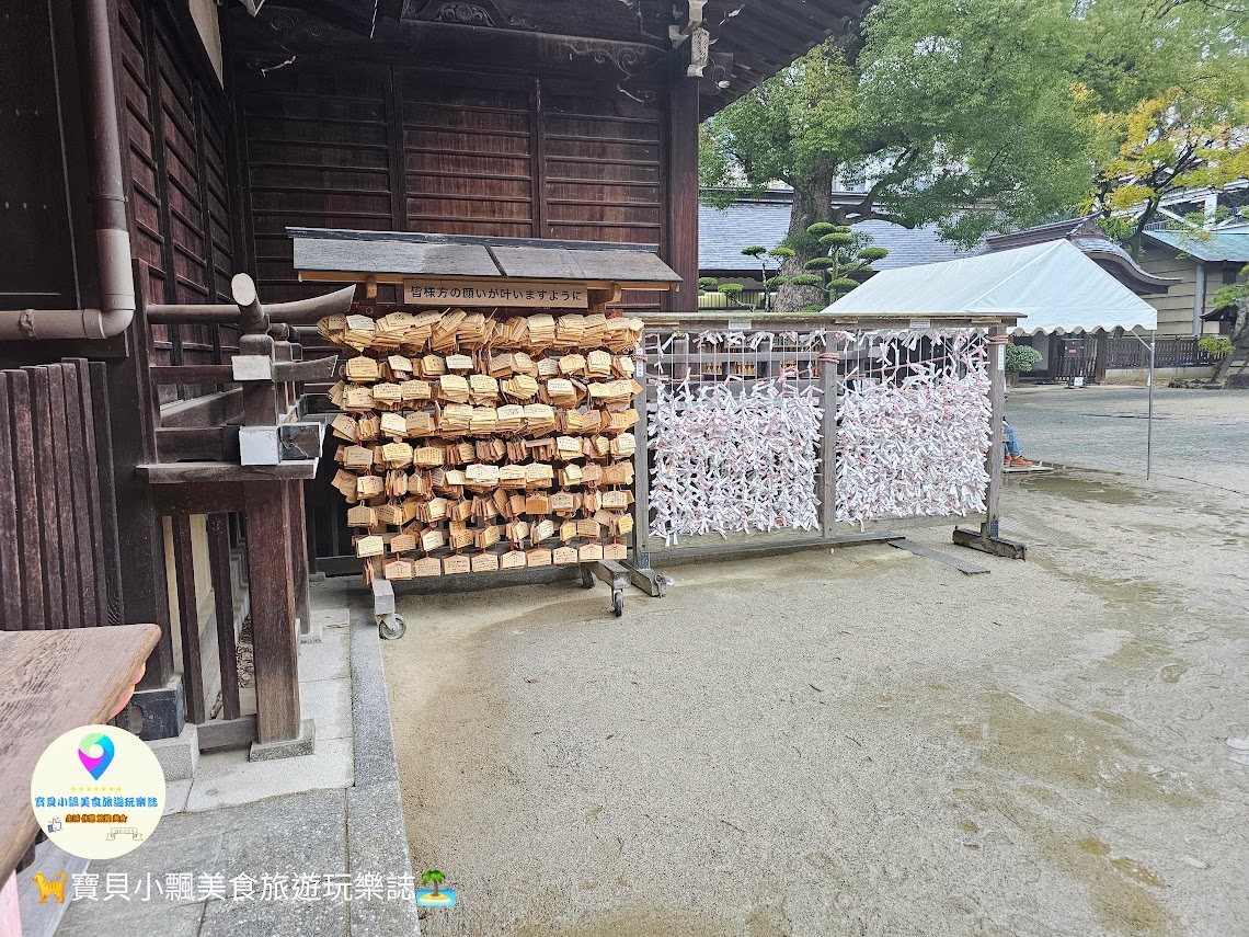
<svg viewBox="0 0 1249 937">
<path fill-rule="evenodd" d="M 973 244 L 1075 204 L 1087 126 L 1069 44 L 1053 41 L 1069 19 L 1057 0 L 882 0 L 857 61 L 818 46 L 704 124 L 702 181 L 793 186 L 791 286 L 826 252 L 816 224 L 937 224 Z M 834 176 L 872 184 L 834 206 Z M 782 287 L 778 309 L 802 304 Z"/>
</svg>

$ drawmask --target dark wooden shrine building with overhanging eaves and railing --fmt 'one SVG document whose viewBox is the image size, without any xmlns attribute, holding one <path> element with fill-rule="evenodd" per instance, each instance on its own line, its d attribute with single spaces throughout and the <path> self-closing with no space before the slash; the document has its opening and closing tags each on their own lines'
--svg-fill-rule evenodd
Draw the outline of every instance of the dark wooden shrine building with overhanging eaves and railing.
<svg viewBox="0 0 1249 937">
<path fill-rule="evenodd" d="M 307 577 L 336 546 L 304 420 L 333 352 L 300 325 L 400 301 L 300 282 L 289 229 L 641 245 L 683 285 L 618 305 L 692 314 L 699 120 L 866 4 L 9 6 L 2 626 L 157 623 L 142 735 L 190 721 L 209 748 L 301 732 Z"/>
</svg>

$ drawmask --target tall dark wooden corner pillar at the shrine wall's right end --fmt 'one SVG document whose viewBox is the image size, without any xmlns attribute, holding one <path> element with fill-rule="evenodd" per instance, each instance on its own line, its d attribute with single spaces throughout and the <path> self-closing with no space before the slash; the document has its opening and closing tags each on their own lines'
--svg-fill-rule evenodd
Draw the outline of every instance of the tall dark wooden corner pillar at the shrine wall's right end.
<svg viewBox="0 0 1249 937">
<path fill-rule="evenodd" d="M 663 260 L 683 282 L 663 294 L 667 312 L 698 309 L 698 80 L 681 77 L 668 91 L 668 225 Z"/>
</svg>

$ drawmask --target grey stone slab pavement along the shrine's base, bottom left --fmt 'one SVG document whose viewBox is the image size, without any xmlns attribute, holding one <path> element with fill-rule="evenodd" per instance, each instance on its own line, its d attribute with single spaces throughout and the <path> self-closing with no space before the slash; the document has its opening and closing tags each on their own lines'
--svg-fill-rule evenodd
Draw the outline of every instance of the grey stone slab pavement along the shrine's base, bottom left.
<svg viewBox="0 0 1249 937">
<path fill-rule="evenodd" d="M 418 933 L 377 627 L 366 605 L 352 622 L 342 588 L 326 591 L 332 607 L 313 612 L 322 640 L 300 650 L 301 702 L 304 716 L 316 722 L 316 752 L 267 762 L 249 761 L 242 750 L 204 755 L 194 781 L 169 785 L 170 812 L 141 848 L 87 870 L 97 876 L 100 897 L 109 875 L 125 875 L 131 900 L 75 900 L 71 886 L 59 933 Z M 176 886 L 186 875 L 187 891 L 166 882 L 175 876 Z M 241 893 L 250 883 L 255 900 L 235 901 L 236 883 Z M 285 897 L 277 897 L 282 890 Z M 343 893 L 351 900 L 340 900 Z"/>
</svg>

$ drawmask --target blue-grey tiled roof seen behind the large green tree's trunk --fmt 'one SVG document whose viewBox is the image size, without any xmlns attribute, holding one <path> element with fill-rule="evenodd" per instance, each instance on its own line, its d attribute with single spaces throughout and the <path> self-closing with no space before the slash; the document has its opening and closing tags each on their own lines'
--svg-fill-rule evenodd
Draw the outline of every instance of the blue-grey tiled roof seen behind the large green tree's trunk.
<svg viewBox="0 0 1249 937">
<path fill-rule="evenodd" d="M 871 235 L 873 247 L 884 247 L 889 256 L 876 261 L 877 270 L 912 267 L 942 260 L 983 254 L 983 247 L 963 250 L 940 241 L 936 227 L 907 229 L 888 221 L 862 221 L 854 231 Z M 753 257 L 742 255 L 742 247 L 763 245 L 769 250 L 789 230 L 789 200 L 786 197 L 742 199 L 727 209 L 698 206 L 698 269 L 758 270 Z"/>
</svg>

